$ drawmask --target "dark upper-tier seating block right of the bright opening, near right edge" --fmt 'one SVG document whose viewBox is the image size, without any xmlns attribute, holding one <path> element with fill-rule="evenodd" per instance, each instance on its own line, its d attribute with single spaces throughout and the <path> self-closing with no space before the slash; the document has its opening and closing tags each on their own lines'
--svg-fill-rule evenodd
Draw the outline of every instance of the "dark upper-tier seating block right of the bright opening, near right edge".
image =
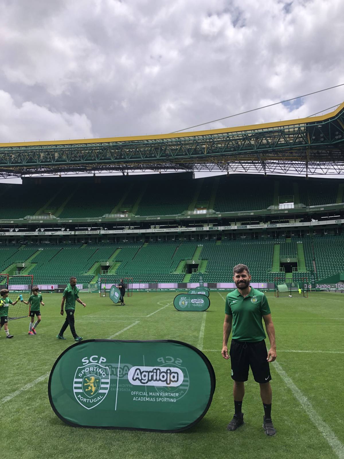
<svg viewBox="0 0 344 459">
<path fill-rule="evenodd" d="M 337 198 L 338 182 L 335 180 L 301 181 L 299 190 L 300 202 L 306 206 L 333 204 Z"/>
</svg>

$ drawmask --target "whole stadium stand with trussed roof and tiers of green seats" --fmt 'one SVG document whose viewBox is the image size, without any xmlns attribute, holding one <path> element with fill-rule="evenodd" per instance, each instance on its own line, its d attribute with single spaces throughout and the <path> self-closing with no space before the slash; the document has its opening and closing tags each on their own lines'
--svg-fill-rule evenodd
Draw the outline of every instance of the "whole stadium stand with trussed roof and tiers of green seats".
<svg viewBox="0 0 344 459">
<path fill-rule="evenodd" d="M 147 288 L 193 287 L 200 274 L 225 288 L 236 263 L 265 288 L 277 278 L 338 276 L 344 180 L 308 175 L 342 172 L 343 139 L 344 104 L 322 117 L 232 129 L 0 144 L 1 173 L 24 176 L 22 185 L 0 184 L 0 270 L 39 285 L 77 275 L 83 285 L 129 277 Z M 130 174 L 147 168 L 184 172 Z M 194 179 L 214 168 L 228 174 Z M 123 176 L 61 176 L 100 170 Z M 29 177 L 47 172 L 57 176 Z"/>
</svg>

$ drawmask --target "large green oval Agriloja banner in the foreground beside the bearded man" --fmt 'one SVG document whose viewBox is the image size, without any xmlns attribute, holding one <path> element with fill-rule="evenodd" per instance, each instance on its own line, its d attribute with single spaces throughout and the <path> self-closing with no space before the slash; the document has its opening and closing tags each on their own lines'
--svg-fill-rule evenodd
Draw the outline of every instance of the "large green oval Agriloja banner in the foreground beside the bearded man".
<svg viewBox="0 0 344 459">
<path fill-rule="evenodd" d="M 87 340 L 56 360 L 48 383 L 55 414 L 69 425 L 179 432 L 211 405 L 215 373 L 181 341 Z"/>
</svg>

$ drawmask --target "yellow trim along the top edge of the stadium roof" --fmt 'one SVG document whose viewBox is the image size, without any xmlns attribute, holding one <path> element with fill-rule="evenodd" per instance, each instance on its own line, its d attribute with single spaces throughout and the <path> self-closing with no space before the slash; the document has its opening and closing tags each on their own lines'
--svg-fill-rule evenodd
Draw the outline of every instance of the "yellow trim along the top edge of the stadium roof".
<svg viewBox="0 0 344 459">
<path fill-rule="evenodd" d="M 251 124 L 248 126 L 237 126 L 234 128 L 222 128 L 222 129 L 210 129 L 205 131 L 191 131 L 182 132 L 176 134 L 155 134 L 155 135 L 135 135 L 132 137 L 107 137 L 102 139 L 74 139 L 74 140 L 54 140 L 54 141 L 33 141 L 33 142 L 11 142 L 11 143 L 0 143 L 0 147 L 14 147 L 14 146 L 44 146 L 44 145 L 75 145 L 75 144 L 89 144 L 89 143 L 108 143 L 108 142 L 134 142 L 137 140 L 162 140 L 162 139 L 179 139 L 184 137 L 194 137 L 201 135 L 213 135 L 213 134 L 226 134 L 227 132 L 242 132 L 242 131 L 253 131 L 258 129 L 269 129 L 277 128 L 279 126 L 289 126 L 295 124 L 305 123 L 318 123 L 325 121 L 329 118 L 336 116 L 341 110 L 344 109 L 344 102 L 338 106 L 333 112 L 326 113 L 326 115 L 310 117 L 310 118 L 298 118 L 287 121 L 275 121 L 273 123 L 261 123 Z"/>
</svg>

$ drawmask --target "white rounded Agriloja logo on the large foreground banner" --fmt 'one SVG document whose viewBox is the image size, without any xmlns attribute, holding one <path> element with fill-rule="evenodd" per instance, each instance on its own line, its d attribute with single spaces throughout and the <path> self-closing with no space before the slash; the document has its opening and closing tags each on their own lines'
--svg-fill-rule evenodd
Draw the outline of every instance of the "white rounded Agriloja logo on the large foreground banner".
<svg viewBox="0 0 344 459">
<path fill-rule="evenodd" d="M 184 380 L 183 371 L 175 367 L 132 367 L 128 380 L 134 386 L 178 387 Z"/>
</svg>

